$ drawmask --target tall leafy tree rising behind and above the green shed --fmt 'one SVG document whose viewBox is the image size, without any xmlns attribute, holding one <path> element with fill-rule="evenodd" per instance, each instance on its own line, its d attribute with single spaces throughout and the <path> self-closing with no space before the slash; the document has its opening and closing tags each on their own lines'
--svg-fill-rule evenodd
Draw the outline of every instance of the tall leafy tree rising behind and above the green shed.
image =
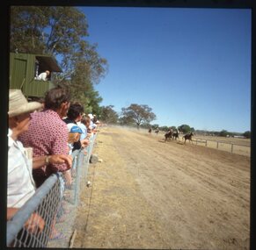
<svg viewBox="0 0 256 250">
<path fill-rule="evenodd" d="M 69 86 L 72 99 L 88 110 L 99 110 L 102 100 L 93 89 L 107 72 L 107 61 L 90 44 L 84 13 L 68 6 L 12 6 L 11 52 L 54 55 L 63 73 L 53 74 L 55 84 Z M 90 95 L 88 95 L 90 94 Z M 91 105 L 91 107 L 90 107 Z"/>
</svg>

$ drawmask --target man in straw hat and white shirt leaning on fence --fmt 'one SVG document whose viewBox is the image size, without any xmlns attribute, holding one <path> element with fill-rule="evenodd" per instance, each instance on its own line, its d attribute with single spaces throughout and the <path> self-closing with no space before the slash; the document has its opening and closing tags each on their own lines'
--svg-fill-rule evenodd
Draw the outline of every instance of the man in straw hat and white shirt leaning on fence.
<svg viewBox="0 0 256 250">
<path fill-rule="evenodd" d="M 30 123 L 30 113 L 41 108 L 37 102 L 28 103 L 20 89 L 10 89 L 9 92 L 9 132 L 8 132 L 8 184 L 7 184 L 7 220 L 35 193 L 32 168 L 40 168 L 47 157 L 29 159 L 26 149 L 18 136 L 26 132 Z M 62 163 L 71 160 L 66 155 L 48 156 L 49 162 Z M 39 214 L 33 213 L 24 225 L 28 232 L 42 232 L 45 222 Z"/>
</svg>

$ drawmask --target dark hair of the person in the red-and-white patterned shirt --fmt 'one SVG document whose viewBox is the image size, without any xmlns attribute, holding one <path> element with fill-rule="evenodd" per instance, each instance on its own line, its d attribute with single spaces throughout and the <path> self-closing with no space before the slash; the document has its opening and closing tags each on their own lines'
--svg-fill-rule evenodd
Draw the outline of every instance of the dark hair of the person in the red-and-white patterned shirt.
<svg viewBox="0 0 256 250">
<path fill-rule="evenodd" d="M 45 108 L 47 110 L 54 110 L 61 108 L 61 105 L 66 102 L 70 102 L 69 89 L 62 87 L 55 87 L 49 89 L 45 96 Z"/>
</svg>

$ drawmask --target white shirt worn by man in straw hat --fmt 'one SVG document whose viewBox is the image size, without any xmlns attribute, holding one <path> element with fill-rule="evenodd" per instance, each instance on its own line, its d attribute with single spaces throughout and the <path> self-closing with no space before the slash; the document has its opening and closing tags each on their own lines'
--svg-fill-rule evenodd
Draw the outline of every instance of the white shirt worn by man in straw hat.
<svg viewBox="0 0 256 250">
<path fill-rule="evenodd" d="M 33 160 L 27 158 L 22 143 L 11 138 L 10 129 L 8 146 L 7 207 L 20 208 L 35 192 Z"/>
</svg>

